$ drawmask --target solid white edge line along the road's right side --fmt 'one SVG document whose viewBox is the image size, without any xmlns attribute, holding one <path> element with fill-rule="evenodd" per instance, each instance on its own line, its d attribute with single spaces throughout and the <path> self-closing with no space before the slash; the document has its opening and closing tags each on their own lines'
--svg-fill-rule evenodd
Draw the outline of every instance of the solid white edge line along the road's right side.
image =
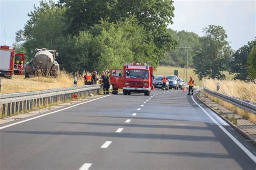
<svg viewBox="0 0 256 170">
<path fill-rule="evenodd" d="M 197 92 L 197 93 L 198 93 L 198 92 Z M 196 93 L 194 93 L 194 94 L 196 94 Z M 248 155 L 248 157 L 250 157 L 254 162 L 256 162 L 256 157 L 255 157 L 244 145 L 242 145 L 241 142 L 239 142 L 237 139 L 235 139 L 235 137 L 233 137 L 233 135 L 232 135 L 230 132 L 228 132 L 222 125 L 219 125 L 219 123 L 218 123 L 202 106 L 200 106 L 200 105 L 197 103 L 196 100 L 194 100 L 193 96 L 191 96 L 191 98 L 192 98 L 192 100 L 194 101 L 194 103 L 196 103 L 196 104 L 201 108 L 201 110 L 203 110 L 203 111 L 208 115 L 208 117 L 209 117 L 210 119 L 212 119 L 212 121 L 213 121 L 216 125 L 218 125 L 219 128 L 220 128 L 224 133 L 226 133 L 226 134 L 228 135 L 228 137 L 230 137 L 230 138 L 235 142 L 235 144 L 237 144 L 237 145 L 242 149 L 242 151 L 244 151 L 244 152 Z"/>
</svg>

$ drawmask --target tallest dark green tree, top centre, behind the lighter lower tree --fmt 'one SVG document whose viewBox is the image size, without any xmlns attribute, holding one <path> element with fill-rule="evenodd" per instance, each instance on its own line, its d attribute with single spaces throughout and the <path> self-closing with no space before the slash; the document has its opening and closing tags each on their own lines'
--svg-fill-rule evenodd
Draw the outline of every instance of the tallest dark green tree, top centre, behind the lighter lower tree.
<svg viewBox="0 0 256 170">
<path fill-rule="evenodd" d="M 60 0 L 59 5 L 67 7 L 65 16 L 69 23 L 65 33 L 79 35 L 79 31 L 90 30 L 94 25 L 107 21 L 118 23 L 125 18 L 134 17 L 139 26 L 143 26 L 148 45 L 154 44 L 154 60 L 160 60 L 165 51 L 170 51 L 176 41 L 167 32 L 167 25 L 172 23 L 173 1 L 155 0 Z M 148 56 L 149 57 L 149 56 Z"/>
</svg>

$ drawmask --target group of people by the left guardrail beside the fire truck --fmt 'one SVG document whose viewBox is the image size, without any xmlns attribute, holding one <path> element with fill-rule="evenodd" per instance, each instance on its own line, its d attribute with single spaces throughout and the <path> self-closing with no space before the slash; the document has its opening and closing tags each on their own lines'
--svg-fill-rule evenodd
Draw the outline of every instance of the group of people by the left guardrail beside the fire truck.
<svg viewBox="0 0 256 170">
<path fill-rule="evenodd" d="M 97 84 L 98 80 L 99 80 L 99 84 L 103 85 L 104 94 L 109 94 L 109 88 L 110 88 L 109 70 L 103 71 L 101 78 L 98 77 L 97 71 L 93 71 L 92 73 L 89 73 L 88 71 L 85 72 L 84 85 Z"/>
</svg>

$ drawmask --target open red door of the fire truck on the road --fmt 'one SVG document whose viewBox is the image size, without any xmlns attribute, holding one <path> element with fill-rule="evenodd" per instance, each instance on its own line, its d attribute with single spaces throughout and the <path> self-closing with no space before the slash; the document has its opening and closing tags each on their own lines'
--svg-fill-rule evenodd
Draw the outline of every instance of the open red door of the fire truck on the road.
<svg viewBox="0 0 256 170">
<path fill-rule="evenodd" d="M 117 94 L 118 89 L 124 87 L 124 72 L 122 69 L 110 70 L 110 83 L 113 87 L 113 94 Z"/>
</svg>

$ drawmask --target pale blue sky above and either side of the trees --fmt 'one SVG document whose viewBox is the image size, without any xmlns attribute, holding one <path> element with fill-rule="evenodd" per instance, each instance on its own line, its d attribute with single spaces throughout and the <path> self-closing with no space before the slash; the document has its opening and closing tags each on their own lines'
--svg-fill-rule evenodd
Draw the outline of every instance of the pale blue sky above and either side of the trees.
<svg viewBox="0 0 256 170">
<path fill-rule="evenodd" d="M 1 45 L 5 44 L 4 28 L 8 45 L 15 42 L 15 32 L 23 29 L 34 4 L 38 6 L 39 0 L 0 0 Z M 192 31 L 203 36 L 205 26 L 220 25 L 226 30 L 227 40 L 234 50 L 256 36 L 254 0 L 177 0 L 174 6 L 173 25 L 169 25 L 173 30 Z"/>
</svg>

